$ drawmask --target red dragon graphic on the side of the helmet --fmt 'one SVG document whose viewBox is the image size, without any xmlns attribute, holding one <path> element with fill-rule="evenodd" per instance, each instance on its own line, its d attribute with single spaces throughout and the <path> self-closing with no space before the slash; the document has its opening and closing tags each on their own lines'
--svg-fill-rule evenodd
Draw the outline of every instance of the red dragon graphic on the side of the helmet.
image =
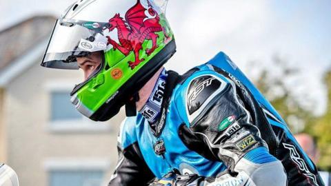
<svg viewBox="0 0 331 186">
<path fill-rule="evenodd" d="M 152 18 L 146 16 L 146 11 Z M 168 34 L 165 32 L 165 28 L 159 23 L 160 17 L 152 6 L 148 2 L 148 9 L 144 8 L 140 0 L 132 6 L 126 12 L 126 19 L 124 20 L 119 14 L 115 14 L 112 19 L 109 20 L 110 27 L 108 28 L 111 32 L 117 28 L 117 34 L 119 43 L 108 38 L 108 45 L 111 44 L 113 50 L 119 50 L 124 55 L 128 56 L 131 51 L 134 52 L 134 61 L 129 61 L 129 67 L 133 70 L 139 63 L 145 59 L 139 59 L 139 51 L 142 49 L 143 41 L 152 40 L 152 48 L 146 49 L 146 54 L 150 56 L 155 49 L 159 47 L 157 45 L 158 34 L 155 32 L 163 31 L 165 35 L 165 42 L 168 41 Z"/>
</svg>

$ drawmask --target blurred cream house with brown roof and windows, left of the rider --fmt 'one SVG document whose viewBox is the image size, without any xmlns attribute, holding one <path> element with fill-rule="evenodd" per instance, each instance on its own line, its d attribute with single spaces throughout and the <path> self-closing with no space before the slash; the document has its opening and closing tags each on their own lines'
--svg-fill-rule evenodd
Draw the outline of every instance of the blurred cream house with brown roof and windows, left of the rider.
<svg viewBox="0 0 331 186">
<path fill-rule="evenodd" d="M 0 162 L 24 186 L 105 185 L 117 162 L 117 126 L 83 118 L 70 103 L 78 71 L 41 68 L 53 17 L 0 32 Z"/>
</svg>

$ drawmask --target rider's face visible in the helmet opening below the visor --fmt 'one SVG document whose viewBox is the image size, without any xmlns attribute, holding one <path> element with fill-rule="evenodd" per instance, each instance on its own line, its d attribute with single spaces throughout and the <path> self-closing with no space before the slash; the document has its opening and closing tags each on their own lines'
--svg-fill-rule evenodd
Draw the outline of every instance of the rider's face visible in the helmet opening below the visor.
<svg viewBox="0 0 331 186">
<path fill-rule="evenodd" d="M 92 52 L 86 57 L 77 57 L 77 63 L 81 70 L 84 72 L 84 80 L 88 79 L 88 76 L 97 70 L 101 63 L 101 52 Z"/>
</svg>

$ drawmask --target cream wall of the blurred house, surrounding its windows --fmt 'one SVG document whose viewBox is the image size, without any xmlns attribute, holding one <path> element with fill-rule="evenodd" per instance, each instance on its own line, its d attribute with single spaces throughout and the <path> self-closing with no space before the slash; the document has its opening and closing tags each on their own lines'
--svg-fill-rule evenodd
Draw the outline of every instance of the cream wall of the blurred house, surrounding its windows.
<svg viewBox="0 0 331 186">
<path fill-rule="evenodd" d="M 107 123 L 95 123 L 96 127 L 108 125 L 109 130 L 50 130 L 49 85 L 61 81 L 79 83 L 81 77 L 74 70 L 41 68 L 36 61 L 8 84 L 4 102 L 4 122 L 8 125 L 8 164 L 19 175 L 21 185 L 48 185 L 48 170 L 61 160 L 76 160 L 76 164 L 79 161 L 92 164 L 108 162 L 106 180 L 110 178 L 117 162 L 117 132 L 123 114 Z"/>
</svg>

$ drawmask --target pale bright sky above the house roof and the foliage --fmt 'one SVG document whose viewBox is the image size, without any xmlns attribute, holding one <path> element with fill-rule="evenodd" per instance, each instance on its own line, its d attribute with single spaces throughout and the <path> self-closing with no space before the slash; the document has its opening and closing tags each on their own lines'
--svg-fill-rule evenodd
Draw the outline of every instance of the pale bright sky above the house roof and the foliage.
<svg viewBox="0 0 331 186">
<path fill-rule="evenodd" d="M 73 2 L 0 0 L 0 30 L 37 14 L 58 17 Z M 321 78 L 331 68 L 331 1 L 169 0 L 166 16 L 177 43 L 166 68 L 183 73 L 223 51 L 254 79 L 263 68 L 277 75 L 271 61 L 278 55 L 301 72 L 288 81 L 299 99 L 317 114 L 325 109 Z"/>
</svg>

